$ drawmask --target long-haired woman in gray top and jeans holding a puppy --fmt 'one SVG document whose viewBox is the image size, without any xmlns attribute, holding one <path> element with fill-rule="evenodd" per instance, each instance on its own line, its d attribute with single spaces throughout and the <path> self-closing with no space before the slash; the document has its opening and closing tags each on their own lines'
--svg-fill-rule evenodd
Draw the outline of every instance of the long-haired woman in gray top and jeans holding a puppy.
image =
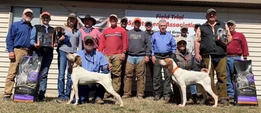
<svg viewBox="0 0 261 113">
<path fill-rule="evenodd" d="M 67 24 L 64 26 L 65 37 L 59 38 L 60 46 L 58 47 L 58 99 L 57 102 L 67 101 L 70 99 L 71 94 L 71 73 L 67 69 L 67 82 L 66 91 L 64 92 L 64 77 L 66 67 L 69 67 L 69 60 L 66 58 L 66 53 L 76 53 L 78 50 L 82 50 L 82 34 L 77 29 L 77 16 L 76 14 L 69 14 Z M 68 65 L 67 65 L 68 63 Z"/>
</svg>

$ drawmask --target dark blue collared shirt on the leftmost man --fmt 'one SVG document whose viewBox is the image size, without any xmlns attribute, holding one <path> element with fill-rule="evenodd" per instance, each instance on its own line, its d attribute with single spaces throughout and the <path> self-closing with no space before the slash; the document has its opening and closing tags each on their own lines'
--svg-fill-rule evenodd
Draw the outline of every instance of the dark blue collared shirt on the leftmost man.
<svg viewBox="0 0 261 113">
<path fill-rule="evenodd" d="M 24 20 L 12 23 L 5 40 L 8 52 L 14 52 L 15 47 L 31 48 L 30 35 L 32 28 L 31 23 L 27 24 Z"/>
</svg>

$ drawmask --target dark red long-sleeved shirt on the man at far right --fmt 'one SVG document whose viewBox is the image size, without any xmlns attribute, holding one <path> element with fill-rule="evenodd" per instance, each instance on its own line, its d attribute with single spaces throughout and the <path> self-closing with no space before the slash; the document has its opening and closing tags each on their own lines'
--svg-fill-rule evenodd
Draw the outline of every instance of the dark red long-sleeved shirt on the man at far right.
<svg viewBox="0 0 261 113">
<path fill-rule="evenodd" d="M 247 40 L 243 33 L 234 32 L 232 34 L 232 41 L 227 45 L 227 55 L 243 55 L 243 57 L 249 55 Z"/>
</svg>

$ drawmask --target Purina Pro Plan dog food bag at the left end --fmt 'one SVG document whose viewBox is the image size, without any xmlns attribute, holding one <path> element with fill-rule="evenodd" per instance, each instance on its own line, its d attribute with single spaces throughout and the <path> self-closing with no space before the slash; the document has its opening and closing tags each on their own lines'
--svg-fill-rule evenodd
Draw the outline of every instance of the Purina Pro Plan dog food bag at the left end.
<svg viewBox="0 0 261 113">
<path fill-rule="evenodd" d="M 35 102 L 38 99 L 41 62 L 42 57 L 22 58 L 14 88 L 14 102 Z"/>
</svg>

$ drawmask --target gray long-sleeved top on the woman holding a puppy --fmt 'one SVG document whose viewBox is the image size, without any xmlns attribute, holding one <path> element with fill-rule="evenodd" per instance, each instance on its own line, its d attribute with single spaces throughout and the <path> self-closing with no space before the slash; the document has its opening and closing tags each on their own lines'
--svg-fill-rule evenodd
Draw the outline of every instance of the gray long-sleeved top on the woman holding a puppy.
<svg viewBox="0 0 261 113">
<path fill-rule="evenodd" d="M 66 27 L 64 27 L 65 35 L 70 37 L 70 40 L 67 42 L 62 42 L 60 50 L 66 52 L 66 53 L 76 53 L 77 47 L 80 50 L 82 50 L 82 33 L 77 30 L 74 31 L 74 34 L 69 31 Z"/>
</svg>

